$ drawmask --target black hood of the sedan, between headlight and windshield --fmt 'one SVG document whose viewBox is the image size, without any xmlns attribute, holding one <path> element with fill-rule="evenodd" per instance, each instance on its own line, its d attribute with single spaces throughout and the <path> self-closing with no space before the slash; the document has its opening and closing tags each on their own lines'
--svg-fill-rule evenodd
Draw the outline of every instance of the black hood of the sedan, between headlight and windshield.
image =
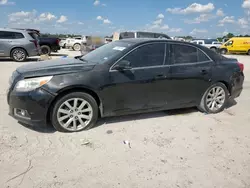
<svg viewBox="0 0 250 188">
<path fill-rule="evenodd" d="M 29 63 L 17 68 L 24 77 L 58 75 L 92 70 L 95 64 L 86 63 L 76 58 L 60 58 Z"/>
</svg>

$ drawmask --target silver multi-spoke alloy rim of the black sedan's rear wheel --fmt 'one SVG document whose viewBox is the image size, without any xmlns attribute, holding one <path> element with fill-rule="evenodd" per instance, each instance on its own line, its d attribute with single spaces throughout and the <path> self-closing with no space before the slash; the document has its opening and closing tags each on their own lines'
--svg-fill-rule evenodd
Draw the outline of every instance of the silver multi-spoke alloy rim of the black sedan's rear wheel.
<svg viewBox="0 0 250 188">
<path fill-rule="evenodd" d="M 206 97 L 206 105 L 210 111 L 218 111 L 220 108 L 223 107 L 225 101 L 226 92 L 222 87 L 216 86 L 209 90 Z"/>
</svg>

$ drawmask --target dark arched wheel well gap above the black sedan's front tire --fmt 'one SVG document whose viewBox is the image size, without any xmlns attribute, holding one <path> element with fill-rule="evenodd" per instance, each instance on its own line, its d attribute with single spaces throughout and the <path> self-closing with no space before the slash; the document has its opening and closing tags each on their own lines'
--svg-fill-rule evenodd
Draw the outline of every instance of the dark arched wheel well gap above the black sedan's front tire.
<svg viewBox="0 0 250 188">
<path fill-rule="evenodd" d="M 49 109 L 48 109 L 48 111 L 47 111 L 47 115 L 46 115 L 46 120 L 47 120 L 47 122 L 50 122 L 50 119 L 51 119 L 51 118 L 50 118 L 50 117 L 51 117 L 51 112 L 52 112 L 52 109 L 53 109 L 53 107 L 54 107 L 56 101 L 57 101 L 58 99 L 62 98 L 63 96 L 65 96 L 65 95 L 67 95 L 67 94 L 69 94 L 69 93 L 73 93 L 73 92 L 83 92 L 83 93 L 87 93 L 87 94 L 91 95 L 91 96 L 95 99 L 95 101 L 97 102 L 98 107 L 99 107 L 100 104 L 101 104 L 101 100 L 100 100 L 99 96 L 98 96 L 94 91 L 92 91 L 92 90 L 90 90 L 90 89 L 86 89 L 86 88 L 74 88 L 74 89 L 69 88 L 69 89 L 66 89 L 66 90 L 63 90 L 62 92 L 60 92 L 60 93 L 54 98 L 54 100 L 51 102 L 50 107 L 49 107 Z M 99 109 L 99 110 L 100 110 L 100 109 Z"/>
</svg>

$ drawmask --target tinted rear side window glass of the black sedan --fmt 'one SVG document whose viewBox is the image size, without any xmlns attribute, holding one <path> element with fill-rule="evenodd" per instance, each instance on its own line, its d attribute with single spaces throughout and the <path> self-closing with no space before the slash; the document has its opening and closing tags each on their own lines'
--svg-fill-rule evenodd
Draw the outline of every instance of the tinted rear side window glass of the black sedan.
<svg viewBox="0 0 250 188">
<path fill-rule="evenodd" d="M 181 44 L 172 44 L 172 60 L 174 64 L 188 64 L 210 61 L 199 49 Z"/>
</svg>

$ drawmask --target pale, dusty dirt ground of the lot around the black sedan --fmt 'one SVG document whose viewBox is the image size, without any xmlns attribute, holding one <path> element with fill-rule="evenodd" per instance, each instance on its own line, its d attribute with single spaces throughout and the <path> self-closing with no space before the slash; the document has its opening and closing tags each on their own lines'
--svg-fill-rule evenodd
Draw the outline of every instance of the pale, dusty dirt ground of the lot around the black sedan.
<svg viewBox="0 0 250 188">
<path fill-rule="evenodd" d="M 74 134 L 32 129 L 7 115 L 8 78 L 21 63 L 1 60 L 0 187 L 249 188 L 250 57 L 237 58 L 245 64 L 244 91 L 220 114 L 106 118 Z"/>
</svg>

